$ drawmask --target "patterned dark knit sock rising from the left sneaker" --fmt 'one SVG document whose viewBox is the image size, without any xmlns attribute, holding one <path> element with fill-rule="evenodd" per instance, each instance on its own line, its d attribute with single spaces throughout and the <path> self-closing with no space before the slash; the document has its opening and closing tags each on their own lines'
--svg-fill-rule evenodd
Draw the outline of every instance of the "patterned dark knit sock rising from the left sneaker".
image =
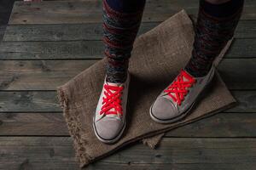
<svg viewBox="0 0 256 170">
<path fill-rule="evenodd" d="M 103 0 L 104 54 L 107 82 L 125 82 L 133 42 L 141 24 L 145 0 Z"/>
</svg>

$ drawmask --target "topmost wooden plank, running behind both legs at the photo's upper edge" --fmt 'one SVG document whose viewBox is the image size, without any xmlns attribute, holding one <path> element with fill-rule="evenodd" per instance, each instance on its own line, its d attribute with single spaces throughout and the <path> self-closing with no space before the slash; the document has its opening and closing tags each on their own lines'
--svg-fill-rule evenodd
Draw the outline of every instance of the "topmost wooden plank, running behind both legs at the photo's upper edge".
<svg viewBox="0 0 256 170">
<path fill-rule="evenodd" d="M 242 20 L 256 18 L 255 0 L 246 2 Z M 148 0 L 143 21 L 163 21 L 185 8 L 188 14 L 196 15 L 198 1 L 193 0 Z M 15 2 L 9 24 L 63 24 L 94 23 L 102 21 L 102 1 L 42 3 Z"/>
</svg>

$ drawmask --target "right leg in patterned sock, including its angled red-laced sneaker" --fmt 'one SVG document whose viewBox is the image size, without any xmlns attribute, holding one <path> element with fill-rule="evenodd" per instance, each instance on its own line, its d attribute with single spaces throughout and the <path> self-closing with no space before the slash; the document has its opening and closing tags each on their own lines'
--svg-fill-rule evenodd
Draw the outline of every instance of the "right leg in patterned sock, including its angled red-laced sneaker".
<svg viewBox="0 0 256 170">
<path fill-rule="evenodd" d="M 155 122 L 187 116 L 214 75 L 213 60 L 234 35 L 243 0 L 201 0 L 192 58 L 150 108 Z"/>
</svg>

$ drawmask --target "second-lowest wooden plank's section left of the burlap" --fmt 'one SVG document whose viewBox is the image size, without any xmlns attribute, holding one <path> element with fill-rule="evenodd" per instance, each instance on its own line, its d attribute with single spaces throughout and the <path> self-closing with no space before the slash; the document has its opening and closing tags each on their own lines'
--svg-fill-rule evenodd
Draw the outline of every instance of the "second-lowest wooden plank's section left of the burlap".
<svg viewBox="0 0 256 170">
<path fill-rule="evenodd" d="M 61 112 L 0 113 L 0 136 L 68 136 Z"/>
</svg>

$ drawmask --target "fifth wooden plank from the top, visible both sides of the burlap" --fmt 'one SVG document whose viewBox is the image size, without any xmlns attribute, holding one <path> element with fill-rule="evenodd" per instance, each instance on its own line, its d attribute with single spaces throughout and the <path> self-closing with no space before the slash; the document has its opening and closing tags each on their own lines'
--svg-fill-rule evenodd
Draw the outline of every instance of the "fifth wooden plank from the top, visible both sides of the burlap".
<svg viewBox="0 0 256 170">
<path fill-rule="evenodd" d="M 256 112 L 256 91 L 231 91 L 239 105 L 225 112 Z M 55 91 L 0 91 L 0 112 L 62 111 Z"/>
</svg>

